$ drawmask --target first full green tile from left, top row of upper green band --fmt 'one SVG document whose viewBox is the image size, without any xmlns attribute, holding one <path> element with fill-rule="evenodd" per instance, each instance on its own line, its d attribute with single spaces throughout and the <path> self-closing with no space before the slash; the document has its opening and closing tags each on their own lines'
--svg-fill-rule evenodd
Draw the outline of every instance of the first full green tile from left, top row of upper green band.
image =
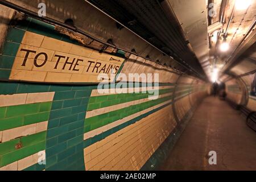
<svg viewBox="0 0 256 182">
<path fill-rule="evenodd" d="M 6 117 L 38 113 L 39 107 L 40 103 L 9 106 L 7 107 Z"/>
</svg>

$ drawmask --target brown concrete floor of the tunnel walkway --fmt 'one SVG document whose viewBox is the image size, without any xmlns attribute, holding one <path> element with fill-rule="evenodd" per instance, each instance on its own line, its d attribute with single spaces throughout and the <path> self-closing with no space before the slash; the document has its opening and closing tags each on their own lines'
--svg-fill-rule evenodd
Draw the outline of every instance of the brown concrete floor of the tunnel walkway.
<svg viewBox="0 0 256 182">
<path fill-rule="evenodd" d="M 240 111 L 217 97 L 197 107 L 161 170 L 256 170 L 256 133 Z M 217 152 L 217 164 L 208 162 Z"/>
</svg>

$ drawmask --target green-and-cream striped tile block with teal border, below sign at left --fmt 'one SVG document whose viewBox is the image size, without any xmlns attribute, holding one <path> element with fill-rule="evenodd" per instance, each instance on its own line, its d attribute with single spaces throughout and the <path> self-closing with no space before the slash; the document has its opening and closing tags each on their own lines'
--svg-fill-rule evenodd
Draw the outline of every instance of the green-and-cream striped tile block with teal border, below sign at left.
<svg viewBox="0 0 256 182">
<path fill-rule="evenodd" d="M 90 86 L 0 83 L 0 169 L 84 169 Z M 38 164 L 45 151 L 46 165 Z"/>
</svg>

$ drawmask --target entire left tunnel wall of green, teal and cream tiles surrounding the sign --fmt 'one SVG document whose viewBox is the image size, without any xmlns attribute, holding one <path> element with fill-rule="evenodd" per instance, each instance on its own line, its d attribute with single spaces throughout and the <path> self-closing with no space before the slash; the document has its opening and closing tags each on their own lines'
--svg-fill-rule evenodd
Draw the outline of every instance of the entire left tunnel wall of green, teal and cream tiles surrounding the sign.
<svg viewBox="0 0 256 182">
<path fill-rule="evenodd" d="M 11 81 L 24 27 L 74 43 L 37 23 L 12 27 L 1 47 L 0 170 L 154 169 L 179 136 L 172 134 L 181 132 L 180 126 L 206 95 L 205 85 L 190 77 L 177 83 L 180 75 L 148 60 L 150 64 L 137 60 L 140 67 L 136 61 L 123 65 L 122 73 L 159 73 L 159 85 L 130 82 L 138 93 L 100 94 L 96 85 L 81 83 Z M 159 92 L 155 100 L 148 99 L 152 90 Z M 46 164 L 38 164 L 38 159 Z"/>
</svg>

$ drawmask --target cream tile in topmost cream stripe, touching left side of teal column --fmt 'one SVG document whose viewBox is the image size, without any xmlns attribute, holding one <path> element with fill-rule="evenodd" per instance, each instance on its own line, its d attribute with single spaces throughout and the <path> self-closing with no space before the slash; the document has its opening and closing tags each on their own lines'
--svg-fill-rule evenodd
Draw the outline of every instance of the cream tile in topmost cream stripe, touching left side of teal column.
<svg viewBox="0 0 256 182">
<path fill-rule="evenodd" d="M 28 93 L 26 104 L 52 101 L 54 94 L 55 92 Z"/>
</svg>

